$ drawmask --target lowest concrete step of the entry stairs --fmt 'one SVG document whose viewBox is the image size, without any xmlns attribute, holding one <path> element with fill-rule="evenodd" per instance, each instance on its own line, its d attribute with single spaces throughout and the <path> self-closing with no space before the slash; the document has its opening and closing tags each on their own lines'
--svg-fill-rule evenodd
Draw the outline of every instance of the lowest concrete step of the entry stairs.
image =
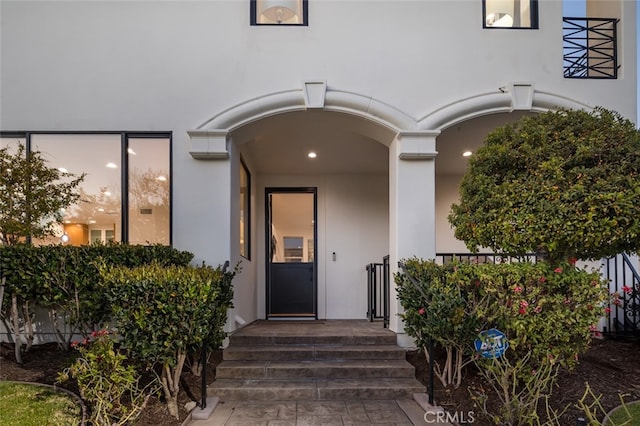
<svg viewBox="0 0 640 426">
<path fill-rule="evenodd" d="M 415 379 L 376 378 L 241 380 L 220 379 L 207 390 L 209 396 L 227 400 L 330 400 L 403 399 L 425 388 Z"/>
</svg>

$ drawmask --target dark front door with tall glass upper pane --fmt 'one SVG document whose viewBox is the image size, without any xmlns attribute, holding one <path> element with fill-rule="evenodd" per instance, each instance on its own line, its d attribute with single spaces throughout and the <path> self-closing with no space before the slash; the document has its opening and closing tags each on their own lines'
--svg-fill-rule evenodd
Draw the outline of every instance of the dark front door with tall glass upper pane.
<svg viewBox="0 0 640 426">
<path fill-rule="evenodd" d="M 317 318 L 316 189 L 267 188 L 267 317 Z"/>
</svg>

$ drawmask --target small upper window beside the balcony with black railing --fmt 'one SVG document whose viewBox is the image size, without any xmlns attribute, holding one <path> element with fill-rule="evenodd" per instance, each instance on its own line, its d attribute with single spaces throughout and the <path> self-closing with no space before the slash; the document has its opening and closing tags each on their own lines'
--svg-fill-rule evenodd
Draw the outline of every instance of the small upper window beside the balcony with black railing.
<svg viewBox="0 0 640 426">
<path fill-rule="evenodd" d="M 482 0 L 483 28 L 538 28 L 538 0 Z"/>
</svg>

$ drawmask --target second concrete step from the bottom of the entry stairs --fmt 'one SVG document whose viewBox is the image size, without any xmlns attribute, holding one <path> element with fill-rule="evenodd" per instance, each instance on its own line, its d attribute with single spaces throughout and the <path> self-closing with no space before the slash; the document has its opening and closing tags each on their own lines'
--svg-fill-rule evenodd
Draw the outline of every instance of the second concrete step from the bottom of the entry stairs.
<svg viewBox="0 0 640 426">
<path fill-rule="evenodd" d="M 298 378 L 411 378 L 415 369 L 406 360 L 347 361 L 223 361 L 216 368 L 217 379 Z"/>
</svg>

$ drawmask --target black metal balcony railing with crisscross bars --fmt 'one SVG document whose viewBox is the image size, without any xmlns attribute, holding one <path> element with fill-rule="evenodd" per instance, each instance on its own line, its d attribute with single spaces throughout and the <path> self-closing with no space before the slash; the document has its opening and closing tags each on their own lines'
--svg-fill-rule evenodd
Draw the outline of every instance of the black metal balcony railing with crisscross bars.
<svg viewBox="0 0 640 426">
<path fill-rule="evenodd" d="M 565 78 L 618 78 L 615 18 L 563 18 Z"/>
</svg>

